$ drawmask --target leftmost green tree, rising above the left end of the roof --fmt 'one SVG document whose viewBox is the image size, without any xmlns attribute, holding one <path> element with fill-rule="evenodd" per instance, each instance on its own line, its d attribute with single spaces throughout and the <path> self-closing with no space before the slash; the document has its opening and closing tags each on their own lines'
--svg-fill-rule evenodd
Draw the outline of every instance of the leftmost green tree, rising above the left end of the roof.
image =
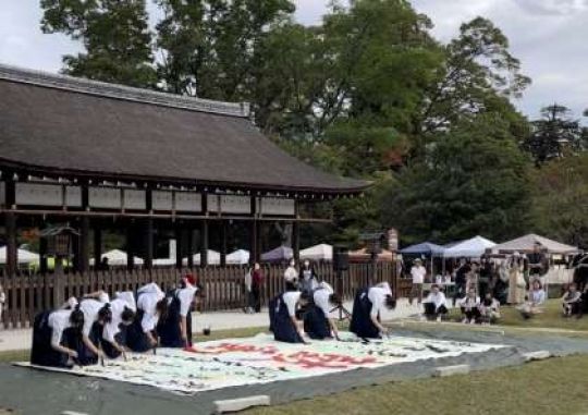
<svg viewBox="0 0 588 415">
<path fill-rule="evenodd" d="M 41 0 L 40 5 L 45 33 L 62 33 L 84 46 L 84 52 L 63 57 L 63 72 L 155 87 L 145 0 Z"/>
</svg>

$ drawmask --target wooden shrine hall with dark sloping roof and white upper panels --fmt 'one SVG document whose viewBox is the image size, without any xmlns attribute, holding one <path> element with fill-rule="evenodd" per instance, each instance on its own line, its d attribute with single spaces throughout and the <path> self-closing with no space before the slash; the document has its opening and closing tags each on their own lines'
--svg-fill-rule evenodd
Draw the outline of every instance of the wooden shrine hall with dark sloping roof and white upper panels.
<svg viewBox="0 0 588 415">
<path fill-rule="evenodd" d="M 211 101 L 0 65 L 0 234 L 5 271 L 17 269 L 20 229 L 68 224 L 75 269 L 101 258 L 102 231 L 126 234 L 127 265 L 152 267 L 156 230 L 177 241 L 177 267 L 201 254 L 210 230 L 246 223 L 252 259 L 259 227 L 292 223 L 298 251 L 304 204 L 360 194 L 368 183 L 321 172 L 254 125 L 247 103 Z M 196 235 L 198 237 L 196 237 Z M 196 243 L 196 241 L 198 243 Z M 93 249 L 90 249 L 93 246 Z M 41 271 L 47 254 L 40 244 Z"/>
</svg>

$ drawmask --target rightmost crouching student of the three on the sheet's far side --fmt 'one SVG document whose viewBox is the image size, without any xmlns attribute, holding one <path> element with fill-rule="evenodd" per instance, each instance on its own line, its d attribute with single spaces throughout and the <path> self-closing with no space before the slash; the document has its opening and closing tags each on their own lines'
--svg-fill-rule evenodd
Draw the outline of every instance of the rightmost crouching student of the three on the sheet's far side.
<svg viewBox="0 0 588 415">
<path fill-rule="evenodd" d="M 384 309 L 394 309 L 396 301 L 388 282 L 358 290 L 353 302 L 350 331 L 358 338 L 379 339 L 388 330 L 380 322 Z"/>
</svg>

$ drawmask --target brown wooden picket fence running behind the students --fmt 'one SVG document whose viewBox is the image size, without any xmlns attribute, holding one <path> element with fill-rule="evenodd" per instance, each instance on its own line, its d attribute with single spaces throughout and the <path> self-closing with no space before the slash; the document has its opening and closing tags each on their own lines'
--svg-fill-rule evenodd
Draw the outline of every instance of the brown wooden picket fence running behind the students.
<svg viewBox="0 0 588 415">
<path fill-rule="evenodd" d="M 265 286 L 262 304 L 284 290 L 284 268 L 279 265 L 262 265 Z M 333 288 L 342 285 L 345 300 L 353 298 L 355 291 L 367 286 L 370 282 L 388 281 L 394 293 L 405 296 L 409 284 L 406 280 L 396 279 L 395 266 L 392 263 L 380 263 L 376 270 L 376 280 L 371 281 L 370 264 L 351 264 L 350 270 L 343 272 L 339 282 L 331 264 L 317 264 L 316 271 L 320 280 Z M 245 305 L 243 279 L 246 268 L 238 266 L 209 267 L 204 269 L 155 268 L 152 270 L 111 270 L 105 272 L 57 274 L 16 274 L 0 277 L 7 302 L 2 322 L 4 328 L 28 327 L 39 312 L 58 306 L 56 298 L 70 296 L 81 297 L 86 293 L 105 290 L 110 295 L 117 291 L 136 291 L 148 282 L 158 283 L 163 291 L 175 286 L 182 274 L 192 272 L 198 276 L 205 288 L 203 310 L 223 310 L 240 308 Z M 57 278 L 61 278 L 57 281 Z M 61 291 L 56 295 L 56 286 Z"/>
</svg>

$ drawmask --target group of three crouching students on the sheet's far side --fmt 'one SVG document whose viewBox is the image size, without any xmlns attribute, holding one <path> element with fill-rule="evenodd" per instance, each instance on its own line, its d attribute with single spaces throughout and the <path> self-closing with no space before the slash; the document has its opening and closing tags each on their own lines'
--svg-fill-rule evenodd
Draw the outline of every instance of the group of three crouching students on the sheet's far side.
<svg viewBox="0 0 588 415">
<path fill-rule="evenodd" d="M 341 298 L 327 282 L 302 292 L 291 285 L 269 303 L 270 331 L 275 340 L 287 343 L 304 343 L 305 334 L 314 340 L 339 340 L 331 312 L 340 305 Z M 381 338 L 388 332 L 381 315 L 385 309 L 394 309 L 395 305 L 388 282 L 358 290 L 350 331 L 363 339 Z"/>
</svg>

